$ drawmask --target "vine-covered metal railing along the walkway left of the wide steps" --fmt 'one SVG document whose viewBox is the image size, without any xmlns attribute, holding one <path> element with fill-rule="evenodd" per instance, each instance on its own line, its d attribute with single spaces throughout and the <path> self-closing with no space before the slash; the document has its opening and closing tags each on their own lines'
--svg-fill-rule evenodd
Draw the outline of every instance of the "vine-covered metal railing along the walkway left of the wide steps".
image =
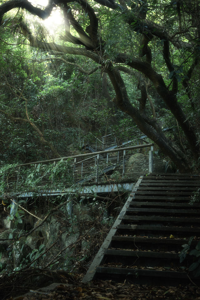
<svg viewBox="0 0 200 300">
<path fill-rule="evenodd" d="M 38 188 L 48 185 L 57 188 L 61 183 L 68 187 L 74 183 L 129 181 L 133 171 L 128 161 L 141 148 L 150 148 L 148 165 L 143 170 L 138 167 L 134 173 L 152 173 L 153 144 L 144 144 L 20 164 L 5 174 L 5 184 L 8 190 L 14 191 L 23 187 L 31 189 L 33 181 Z"/>
</svg>

